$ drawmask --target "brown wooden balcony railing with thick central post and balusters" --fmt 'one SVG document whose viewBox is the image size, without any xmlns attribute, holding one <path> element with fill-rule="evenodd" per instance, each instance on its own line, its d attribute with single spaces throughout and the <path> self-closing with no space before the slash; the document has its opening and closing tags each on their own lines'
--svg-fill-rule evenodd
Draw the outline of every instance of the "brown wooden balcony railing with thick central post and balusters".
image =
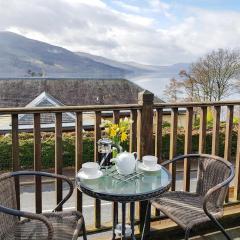
<svg viewBox="0 0 240 240">
<path fill-rule="evenodd" d="M 225 146 L 224 158 L 233 161 L 236 169 L 236 178 L 233 185 L 233 194 L 228 194 L 226 202 L 237 202 L 240 199 L 240 124 L 238 126 L 237 147 L 234 149 L 236 156 L 232 155 L 232 133 L 233 133 L 233 117 L 236 116 L 236 108 L 240 106 L 239 101 L 225 101 L 225 102 L 211 102 L 211 103 L 153 103 L 153 94 L 145 91 L 139 94 L 138 104 L 126 105 L 96 105 L 96 106 L 65 106 L 65 107 L 44 107 L 44 108 L 2 108 L 0 114 L 10 114 L 12 117 L 12 170 L 20 169 L 19 163 L 19 114 L 33 114 L 34 115 L 34 169 L 41 170 L 41 123 L 40 117 L 43 113 L 55 114 L 55 172 L 62 174 L 63 171 L 63 143 L 62 143 L 62 114 L 65 112 L 74 112 L 76 114 L 75 123 L 75 170 L 76 172 L 81 168 L 83 163 L 83 113 L 93 112 L 95 115 L 94 124 L 94 144 L 95 154 L 94 161 L 97 161 L 97 141 L 101 138 L 101 113 L 103 111 L 111 111 L 113 121 L 118 123 L 120 118 L 120 111 L 130 111 L 130 117 L 133 120 L 130 131 L 129 150 L 137 151 L 139 157 L 146 154 L 155 154 L 159 163 L 166 160 L 163 157 L 163 122 L 166 111 L 171 115 L 170 118 L 170 139 L 169 139 L 169 158 L 177 155 L 177 134 L 179 129 L 178 118 L 179 110 L 184 109 L 184 153 L 192 153 L 192 136 L 193 136 L 193 120 L 197 115 L 200 118 L 199 129 L 199 146 L 198 152 L 206 152 L 206 138 L 207 132 L 212 132 L 211 153 L 219 154 L 219 134 L 220 123 L 225 122 Z M 207 110 L 213 109 L 213 124 L 211 129 L 207 126 Z M 222 114 L 221 110 L 225 109 L 226 113 Z M 182 116 L 182 115 L 181 115 Z M 239 118 L 239 116 L 237 116 Z M 225 119 L 226 118 L 226 119 Z M 196 131 L 196 130 L 195 130 Z M 196 152 L 196 150 L 195 150 Z M 172 188 L 176 189 L 176 165 L 170 166 L 172 173 Z M 183 186 L 182 189 L 190 191 L 191 187 L 191 166 L 185 161 L 183 165 Z M 63 186 L 60 180 L 56 181 L 56 202 L 59 203 L 63 195 Z M 20 185 L 19 179 L 16 178 L 16 189 L 18 197 L 18 207 L 20 207 Z M 35 207 L 36 212 L 42 211 L 42 180 L 40 177 L 35 178 Z M 82 211 L 82 193 L 76 190 L 76 208 Z M 115 204 L 113 208 L 117 208 Z M 101 228 L 101 202 L 95 200 L 95 228 Z M 144 220 L 146 213 L 146 203 L 139 204 L 139 220 L 140 227 Z M 159 217 L 159 212 L 155 212 L 154 217 Z M 148 226 L 149 227 L 149 226 Z"/>
</svg>

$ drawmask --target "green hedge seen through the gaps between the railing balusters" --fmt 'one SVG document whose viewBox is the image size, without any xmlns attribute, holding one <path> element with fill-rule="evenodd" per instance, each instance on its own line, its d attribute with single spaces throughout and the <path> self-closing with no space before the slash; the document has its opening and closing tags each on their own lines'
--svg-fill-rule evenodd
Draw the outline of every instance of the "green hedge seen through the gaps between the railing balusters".
<svg viewBox="0 0 240 240">
<path fill-rule="evenodd" d="M 179 130 L 177 136 L 177 155 L 184 153 L 184 131 Z M 192 138 L 192 152 L 198 152 L 198 132 L 193 133 Z M 219 136 L 219 155 L 224 155 L 224 140 L 225 134 L 224 129 L 221 131 Z M 206 139 L 206 153 L 211 153 L 211 132 L 207 133 Z M 169 131 L 164 131 L 163 134 L 163 148 L 162 155 L 163 159 L 169 158 L 169 142 L 170 134 Z M 154 143 L 154 142 L 153 142 Z M 12 141 L 11 135 L 0 136 L 0 170 L 10 170 L 11 169 L 11 159 L 12 159 Z M 236 154 L 237 145 L 237 131 L 233 131 L 232 136 L 232 156 Z M 21 133 L 19 135 L 19 158 L 20 166 L 22 169 L 32 169 L 33 168 L 33 134 Z M 55 139 L 54 134 L 44 134 L 42 135 L 41 141 L 42 147 L 42 168 L 48 169 L 54 167 L 54 154 L 55 154 Z M 128 149 L 128 146 L 124 146 Z M 64 167 L 75 165 L 75 135 L 73 133 L 63 134 L 63 165 Z M 92 137 L 85 137 L 83 139 L 83 160 L 84 162 L 92 161 L 94 158 L 94 142 Z"/>
</svg>

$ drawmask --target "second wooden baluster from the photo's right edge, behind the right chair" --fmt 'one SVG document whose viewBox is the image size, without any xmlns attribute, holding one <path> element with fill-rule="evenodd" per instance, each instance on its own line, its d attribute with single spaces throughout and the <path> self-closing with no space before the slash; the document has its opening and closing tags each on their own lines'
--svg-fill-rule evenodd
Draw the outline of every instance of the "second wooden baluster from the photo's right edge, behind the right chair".
<svg viewBox="0 0 240 240">
<path fill-rule="evenodd" d="M 233 105 L 227 106 L 227 120 L 225 132 L 224 159 L 231 161 L 232 153 L 232 131 L 233 131 Z M 229 201 L 229 189 L 226 196 L 226 202 Z"/>
</svg>

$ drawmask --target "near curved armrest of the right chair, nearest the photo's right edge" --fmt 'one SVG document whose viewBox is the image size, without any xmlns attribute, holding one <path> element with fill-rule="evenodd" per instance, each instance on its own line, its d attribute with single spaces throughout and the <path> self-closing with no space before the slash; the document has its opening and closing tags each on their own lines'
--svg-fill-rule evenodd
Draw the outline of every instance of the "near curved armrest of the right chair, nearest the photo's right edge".
<svg viewBox="0 0 240 240">
<path fill-rule="evenodd" d="M 232 165 L 229 166 L 230 168 L 230 174 L 229 174 L 229 177 L 227 179 L 225 179 L 223 182 L 217 184 L 216 186 L 210 188 L 207 193 L 205 194 L 204 196 L 204 199 L 203 199 L 203 210 L 204 212 L 209 216 L 211 215 L 207 209 L 207 203 L 208 203 L 208 200 L 210 198 L 210 196 L 216 192 L 217 190 L 223 188 L 223 187 L 226 187 L 230 184 L 230 182 L 233 180 L 235 174 L 234 174 L 234 167 Z"/>
</svg>

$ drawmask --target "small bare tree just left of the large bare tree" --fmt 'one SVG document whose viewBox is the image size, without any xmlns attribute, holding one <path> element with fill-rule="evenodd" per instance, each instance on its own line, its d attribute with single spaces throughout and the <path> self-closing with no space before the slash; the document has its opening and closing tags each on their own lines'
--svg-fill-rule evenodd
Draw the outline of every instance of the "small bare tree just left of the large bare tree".
<svg viewBox="0 0 240 240">
<path fill-rule="evenodd" d="M 170 102 L 177 102 L 180 99 L 179 95 L 183 93 L 181 87 L 181 82 L 175 78 L 172 78 L 164 89 L 164 95 L 166 96 L 166 99 Z"/>
</svg>

